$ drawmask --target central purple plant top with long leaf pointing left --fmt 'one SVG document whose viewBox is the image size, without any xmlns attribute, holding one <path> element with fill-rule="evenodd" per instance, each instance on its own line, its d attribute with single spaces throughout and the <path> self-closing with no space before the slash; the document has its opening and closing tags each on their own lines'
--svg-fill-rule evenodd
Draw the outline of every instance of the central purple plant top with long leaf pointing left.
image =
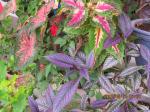
<svg viewBox="0 0 150 112">
<path fill-rule="evenodd" d="M 79 52 L 75 57 L 57 53 L 46 56 L 46 59 L 56 66 L 66 68 L 67 76 L 74 71 L 78 71 L 82 77 L 89 80 L 88 69 L 94 65 L 94 52 L 92 51 L 87 58 L 84 53 Z"/>
</svg>

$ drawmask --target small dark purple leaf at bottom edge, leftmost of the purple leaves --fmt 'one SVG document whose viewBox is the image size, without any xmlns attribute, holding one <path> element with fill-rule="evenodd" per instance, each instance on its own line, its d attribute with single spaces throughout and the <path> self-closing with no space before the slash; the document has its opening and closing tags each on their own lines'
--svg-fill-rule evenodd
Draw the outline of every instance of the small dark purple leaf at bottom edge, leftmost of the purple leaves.
<svg viewBox="0 0 150 112">
<path fill-rule="evenodd" d="M 38 108 L 38 105 L 37 105 L 37 102 L 34 101 L 34 99 L 32 97 L 28 98 L 28 102 L 29 102 L 31 112 L 40 112 L 39 108 Z"/>
</svg>

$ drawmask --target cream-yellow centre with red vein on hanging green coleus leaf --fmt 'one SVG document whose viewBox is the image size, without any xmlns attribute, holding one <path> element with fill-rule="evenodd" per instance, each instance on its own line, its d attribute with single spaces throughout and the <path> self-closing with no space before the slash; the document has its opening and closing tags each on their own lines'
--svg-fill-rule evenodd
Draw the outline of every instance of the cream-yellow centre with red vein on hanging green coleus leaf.
<svg viewBox="0 0 150 112">
<path fill-rule="evenodd" d="M 97 28 L 95 33 L 96 33 L 95 47 L 99 48 L 99 43 L 100 43 L 101 39 L 103 38 L 103 31 L 101 28 Z"/>
</svg>

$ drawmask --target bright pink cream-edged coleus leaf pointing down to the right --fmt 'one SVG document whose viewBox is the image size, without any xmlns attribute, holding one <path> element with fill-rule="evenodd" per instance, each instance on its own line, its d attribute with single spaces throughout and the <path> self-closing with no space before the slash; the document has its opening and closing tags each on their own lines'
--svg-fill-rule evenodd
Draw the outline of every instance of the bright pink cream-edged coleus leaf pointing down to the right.
<svg viewBox="0 0 150 112">
<path fill-rule="evenodd" d="M 110 34 L 110 26 L 108 21 L 105 19 L 105 17 L 103 16 L 96 16 L 94 17 L 94 21 L 97 21 L 102 27 L 103 29 Z"/>
</svg>

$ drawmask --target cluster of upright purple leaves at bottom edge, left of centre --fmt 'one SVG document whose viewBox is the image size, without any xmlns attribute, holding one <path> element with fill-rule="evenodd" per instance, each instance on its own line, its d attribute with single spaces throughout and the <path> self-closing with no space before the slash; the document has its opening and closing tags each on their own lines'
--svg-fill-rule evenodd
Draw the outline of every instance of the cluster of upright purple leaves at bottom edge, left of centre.
<svg viewBox="0 0 150 112">
<path fill-rule="evenodd" d="M 29 106 L 32 112 L 60 112 L 67 104 L 70 103 L 78 88 L 80 79 L 72 80 L 60 88 L 55 96 L 51 86 L 48 86 L 44 96 L 36 101 L 29 97 Z"/>
</svg>

